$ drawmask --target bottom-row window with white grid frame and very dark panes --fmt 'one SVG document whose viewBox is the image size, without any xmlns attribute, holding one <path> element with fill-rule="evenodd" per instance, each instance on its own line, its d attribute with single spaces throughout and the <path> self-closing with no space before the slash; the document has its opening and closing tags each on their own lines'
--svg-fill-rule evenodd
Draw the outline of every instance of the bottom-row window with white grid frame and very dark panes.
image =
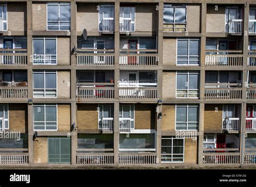
<svg viewBox="0 0 256 187">
<path fill-rule="evenodd" d="M 184 162 L 184 138 L 163 136 L 161 138 L 161 162 Z"/>
</svg>

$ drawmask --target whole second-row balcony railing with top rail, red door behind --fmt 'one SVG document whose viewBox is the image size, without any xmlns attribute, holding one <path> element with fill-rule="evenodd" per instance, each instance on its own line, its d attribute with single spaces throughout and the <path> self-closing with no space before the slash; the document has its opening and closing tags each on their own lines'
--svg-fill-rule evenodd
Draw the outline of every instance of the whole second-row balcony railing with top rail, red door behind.
<svg viewBox="0 0 256 187">
<path fill-rule="evenodd" d="M 157 66 L 158 54 L 155 49 L 120 49 L 119 64 L 123 66 Z M 122 53 L 126 52 L 126 53 Z M 141 53 L 139 53 L 141 52 Z M 146 52 L 146 53 L 145 53 Z M 153 53 L 153 54 L 152 54 Z"/>
</svg>

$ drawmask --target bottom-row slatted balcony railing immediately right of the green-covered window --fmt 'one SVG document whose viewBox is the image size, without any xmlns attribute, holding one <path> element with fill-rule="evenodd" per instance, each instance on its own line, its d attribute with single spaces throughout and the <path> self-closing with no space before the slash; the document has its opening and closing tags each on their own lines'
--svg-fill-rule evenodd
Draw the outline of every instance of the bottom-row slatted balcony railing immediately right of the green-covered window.
<svg viewBox="0 0 256 187">
<path fill-rule="evenodd" d="M 78 165 L 112 165 L 114 163 L 113 153 L 78 154 Z"/>
</svg>

